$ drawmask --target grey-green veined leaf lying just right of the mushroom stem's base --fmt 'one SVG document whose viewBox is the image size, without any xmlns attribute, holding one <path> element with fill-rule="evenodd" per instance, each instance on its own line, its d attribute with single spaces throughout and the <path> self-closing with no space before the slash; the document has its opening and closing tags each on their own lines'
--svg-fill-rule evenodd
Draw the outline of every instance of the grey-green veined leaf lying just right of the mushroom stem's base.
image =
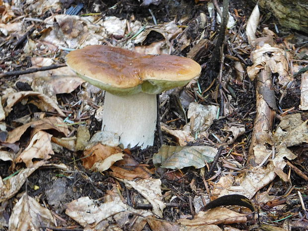
<svg viewBox="0 0 308 231">
<path fill-rule="evenodd" d="M 205 162 L 211 162 L 217 149 L 209 146 L 162 146 L 153 156 L 153 163 L 163 168 L 180 169 L 194 166 L 201 168 Z"/>
</svg>

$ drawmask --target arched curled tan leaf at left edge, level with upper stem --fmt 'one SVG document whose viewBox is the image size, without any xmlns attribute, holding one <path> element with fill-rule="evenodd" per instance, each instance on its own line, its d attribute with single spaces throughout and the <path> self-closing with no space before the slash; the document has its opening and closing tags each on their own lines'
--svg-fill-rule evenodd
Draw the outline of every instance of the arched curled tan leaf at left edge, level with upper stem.
<svg viewBox="0 0 308 231">
<path fill-rule="evenodd" d="M 59 106 L 47 95 L 36 91 L 19 91 L 19 92 L 12 92 L 2 96 L 2 103 L 6 102 L 6 106 L 4 107 L 5 115 L 12 110 L 12 107 L 15 103 L 19 102 L 20 100 L 28 97 L 28 96 L 35 96 L 40 99 L 39 102 L 31 100 L 30 103 L 36 105 L 42 111 L 56 111 L 61 116 L 65 116 Z"/>
</svg>

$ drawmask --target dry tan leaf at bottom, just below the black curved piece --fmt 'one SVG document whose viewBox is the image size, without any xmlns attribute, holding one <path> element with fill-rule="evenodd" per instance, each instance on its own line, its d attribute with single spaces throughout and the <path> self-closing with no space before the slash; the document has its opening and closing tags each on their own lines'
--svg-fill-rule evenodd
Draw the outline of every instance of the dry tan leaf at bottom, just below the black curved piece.
<svg viewBox="0 0 308 231">
<path fill-rule="evenodd" d="M 246 214 L 236 213 L 227 208 L 214 208 L 209 211 L 200 211 L 194 219 L 179 219 L 177 222 L 184 226 L 203 226 L 207 224 L 232 224 L 247 222 Z"/>
</svg>

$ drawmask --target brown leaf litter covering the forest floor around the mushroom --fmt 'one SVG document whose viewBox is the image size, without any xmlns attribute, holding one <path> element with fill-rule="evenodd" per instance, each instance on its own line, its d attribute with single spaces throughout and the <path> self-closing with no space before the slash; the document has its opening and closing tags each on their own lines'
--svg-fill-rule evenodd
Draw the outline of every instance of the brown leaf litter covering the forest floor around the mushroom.
<svg viewBox="0 0 308 231">
<path fill-rule="evenodd" d="M 91 44 L 143 54 L 187 56 L 193 51 L 199 64 L 210 65 L 214 54 L 206 51 L 220 28 L 219 13 L 214 13 L 218 7 L 201 0 L 182 2 L 180 8 L 172 1 L 136 2 L 84 4 L 82 15 L 68 15 L 69 2 L 0 1 L 0 68 L 6 72 L 61 64 L 70 50 Z M 228 194 L 260 203 L 262 221 L 282 226 L 291 216 L 291 226 L 304 226 L 307 215 L 298 212 L 300 202 L 290 207 L 282 199 L 280 205 L 265 206 L 298 198 L 295 187 L 307 194 L 307 182 L 301 179 L 307 173 L 307 49 L 263 25 L 257 6 L 248 20 L 247 13 L 231 3 L 229 19 L 235 20 L 227 31 L 228 55 L 221 59 L 219 81 L 204 85 L 200 77 L 173 91 L 172 97 L 167 91 L 160 98 L 162 134 L 146 150 L 123 149 L 119 137 L 100 131 L 104 92 L 67 67 L 1 77 L 0 214 L 6 220 L 0 220 L 0 228 L 188 231 L 229 230 L 218 224 L 242 229 L 243 223 L 248 229 L 255 221 L 242 209 L 198 209 L 195 214 L 199 205 L 192 198 L 200 198 L 202 207 Z M 252 81 L 262 72 L 270 73 L 273 84 L 261 86 L 256 95 L 268 110 L 275 110 L 280 123 L 258 131 Z M 249 148 L 252 130 L 256 142 Z M 224 151 L 217 152 L 219 147 Z M 57 184 L 63 185 L 63 197 L 56 196 Z M 296 217 L 303 223 L 296 223 Z"/>
</svg>

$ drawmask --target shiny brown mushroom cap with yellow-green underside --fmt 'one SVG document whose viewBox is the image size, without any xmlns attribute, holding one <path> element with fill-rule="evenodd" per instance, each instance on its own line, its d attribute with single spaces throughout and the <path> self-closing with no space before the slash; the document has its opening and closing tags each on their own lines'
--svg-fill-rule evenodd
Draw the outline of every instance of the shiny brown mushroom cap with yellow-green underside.
<svg viewBox="0 0 308 231">
<path fill-rule="evenodd" d="M 171 55 L 142 55 L 104 45 L 70 52 L 67 65 L 78 76 L 112 94 L 158 94 L 200 75 L 195 61 Z"/>
</svg>

